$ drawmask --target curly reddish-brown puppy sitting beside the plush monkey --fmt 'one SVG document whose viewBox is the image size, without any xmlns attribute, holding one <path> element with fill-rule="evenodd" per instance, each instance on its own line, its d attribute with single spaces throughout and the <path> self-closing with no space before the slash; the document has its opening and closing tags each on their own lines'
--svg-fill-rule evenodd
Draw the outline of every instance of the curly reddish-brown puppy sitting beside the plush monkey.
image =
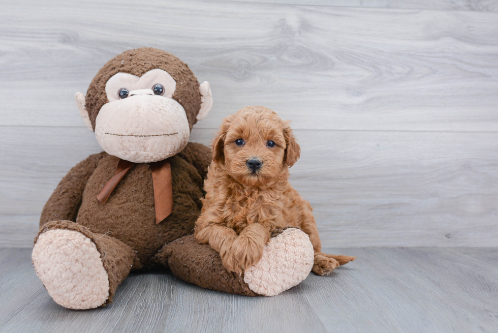
<svg viewBox="0 0 498 333">
<path fill-rule="evenodd" d="M 321 252 L 312 207 L 288 182 L 300 147 L 288 122 L 275 112 L 250 106 L 228 116 L 212 149 L 195 237 L 219 252 L 229 271 L 241 274 L 257 263 L 271 233 L 284 227 L 299 227 L 309 235 L 315 274 L 331 273 L 356 259 Z"/>
</svg>

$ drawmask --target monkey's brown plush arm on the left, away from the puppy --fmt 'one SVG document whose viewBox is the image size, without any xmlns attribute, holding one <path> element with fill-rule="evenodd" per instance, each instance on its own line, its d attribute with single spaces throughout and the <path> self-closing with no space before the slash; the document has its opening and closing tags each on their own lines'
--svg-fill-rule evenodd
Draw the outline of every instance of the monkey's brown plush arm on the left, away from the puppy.
<svg viewBox="0 0 498 333">
<path fill-rule="evenodd" d="M 97 163 L 106 153 L 89 156 L 73 167 L 60 181 L 57 188 L 43 207 L 40 227 L 47 222 L 57 220 L 76 221 L 83 190 L 90 175 L 97 168 Z"/>
</svg>

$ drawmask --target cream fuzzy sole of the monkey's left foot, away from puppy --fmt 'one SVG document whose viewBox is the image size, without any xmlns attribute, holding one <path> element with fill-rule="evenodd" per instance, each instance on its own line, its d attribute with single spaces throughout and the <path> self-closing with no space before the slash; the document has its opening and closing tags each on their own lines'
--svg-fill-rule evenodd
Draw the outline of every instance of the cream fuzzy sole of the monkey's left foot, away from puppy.
<svg viewBox="0 0 498 333">
<path fill-rule="evenodd" d="M 109 278 L 90 238 L 71 230 L 48 230 L 32 254 L 36 274 L 53 300 L 69 309 L 92 309 L 109 297 Z"/>
</svg>

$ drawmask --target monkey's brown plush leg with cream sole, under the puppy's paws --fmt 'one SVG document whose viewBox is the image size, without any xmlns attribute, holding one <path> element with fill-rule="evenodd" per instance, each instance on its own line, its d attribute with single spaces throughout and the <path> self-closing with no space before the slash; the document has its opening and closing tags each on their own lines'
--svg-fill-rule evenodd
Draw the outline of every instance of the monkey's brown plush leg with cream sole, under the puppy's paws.
<svg viewBox="0 0 498 333">
<path fill-rule="evenodd" d="M 271 238 L 261 260 L 240 276 L 229 272 L 220 255 L 208 244 L 198 244 L 194 235 L 172 241 L 156 255 L 183 281 L 245 296 L 273 296 L 297 285 L 311 271 L 313 258 L 309 237 L 295 228 Z"/>
</svg>

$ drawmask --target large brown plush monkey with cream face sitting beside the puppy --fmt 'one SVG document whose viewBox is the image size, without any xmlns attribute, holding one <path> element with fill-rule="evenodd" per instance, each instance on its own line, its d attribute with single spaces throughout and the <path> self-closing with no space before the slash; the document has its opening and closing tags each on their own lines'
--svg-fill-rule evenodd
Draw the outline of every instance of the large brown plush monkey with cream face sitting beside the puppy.
<svg viewBox="0 0 498 333">
<path fill-rule="evenodd" d="M 165 267 L 205 288 L 262 294 L 192 235 L 211 151 L 189 136 L 211 108 L 209 83 L 199 85 L 174 55 L 140 48 L 105 64 L 76 102 L 105 152 L 71 169 L 43 208 L 32 258 L 54 301 L 71 309 L 104 306 L 131 270 Z M 276 248 L 300 253 L 303 244 Z M 253 284 L 272 281 L 260 273 L 251 271 Z"/>
</svg>

